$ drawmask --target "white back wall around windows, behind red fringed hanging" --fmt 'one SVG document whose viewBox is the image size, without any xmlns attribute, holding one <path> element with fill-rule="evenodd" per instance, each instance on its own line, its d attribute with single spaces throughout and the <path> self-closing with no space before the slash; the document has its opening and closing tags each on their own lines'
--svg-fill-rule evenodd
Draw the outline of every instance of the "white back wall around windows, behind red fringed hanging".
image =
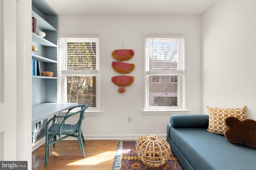
<svg viewBox="0 0 256 170">
<path fill-rule="evenodd" d="M 143 33 L 185 34 L 186 36 L 186 109 L 190 114 L 201 110 L 201 18 L 200 16 L 59 16 L 59 34 L 99 34 L 102 80 L 100 117 L 86 117 L 83 133 L 87 139 L 131 139 L 141 134 L 166 135 L 169 115 L 142 115 L 143 110 Z M 124 94 L 111 77 L 118 75 L 111 67 L 115 49 L 133 49 L 128 63 L 136 65 L 135 77 Z M 132 123 L 128 123 L 132 117 Z"/>
</svg>

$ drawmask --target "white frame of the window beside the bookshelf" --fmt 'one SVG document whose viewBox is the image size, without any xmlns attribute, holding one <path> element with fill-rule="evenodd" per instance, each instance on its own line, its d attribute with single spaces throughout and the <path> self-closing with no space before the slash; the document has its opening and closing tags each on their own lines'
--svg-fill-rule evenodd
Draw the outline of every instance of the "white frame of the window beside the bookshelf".
<svg viewBox="0 0 256 170">
<path fill-rule="evenodd" d="M 96 107 L 88 107 L 86 109 L 86 115 L 100 116 L 102 115 L 100 107 L 100 54 L 99 54 L 99 35 L 59 35 L 59 42 L 61 38 L 98 38 L 98 69 L 97 70 L 61 70 L 61 62 L 58 62 L 58 101 L 67 102 L 67 76 L 96 76 Z M 59 47 L 58 51 L 61 48 Z M 58 55 L 58 61 L 60 61 L 60 53 Z"/>
</svg>

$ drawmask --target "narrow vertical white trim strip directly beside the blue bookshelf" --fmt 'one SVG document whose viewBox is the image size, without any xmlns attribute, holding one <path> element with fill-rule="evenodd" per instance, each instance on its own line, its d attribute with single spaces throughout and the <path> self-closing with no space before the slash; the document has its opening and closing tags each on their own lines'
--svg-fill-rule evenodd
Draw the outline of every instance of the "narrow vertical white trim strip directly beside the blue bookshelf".
<svg viewBox="0 0 256 170">
<path fill-rule="evenodd" d="M 17 2 L 17 160 L 28 161 L 31 169 L 32 79 L 31 0 Z M 9 8 L 7 8 L 9 9 Z M 14 100 L 12 99 L 12 102 Z M 9 108 L 10 110 L 10 108 Z M 13 138 L 13 137 L 12 137 Z M 12 140 L 12 138 L 10 140 Z M 9 148 L 9 147 L 8 147 Z M 10 148 L 9 148 L 10 149 Z"/>
</svg>

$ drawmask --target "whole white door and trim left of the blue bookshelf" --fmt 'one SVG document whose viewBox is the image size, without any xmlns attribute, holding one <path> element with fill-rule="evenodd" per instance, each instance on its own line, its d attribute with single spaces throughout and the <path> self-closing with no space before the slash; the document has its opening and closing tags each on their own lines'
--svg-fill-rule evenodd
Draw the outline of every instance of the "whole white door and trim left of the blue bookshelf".
<svg viewBox="0 0 256 170">
<path fill-rule="evenodd" d="M 0 9 L 0 160 L 30 170 L 31 0 L 0 0 Z"/>
</svg>

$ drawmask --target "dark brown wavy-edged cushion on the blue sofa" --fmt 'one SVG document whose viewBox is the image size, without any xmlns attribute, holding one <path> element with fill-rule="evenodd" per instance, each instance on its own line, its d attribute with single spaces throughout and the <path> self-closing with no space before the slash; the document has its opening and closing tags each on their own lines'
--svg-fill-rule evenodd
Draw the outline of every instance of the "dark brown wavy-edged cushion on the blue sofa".
<svg viewBox="0 0 256 170">
<path fill-rule="evenodd" d="M 236 117 L 227 117 L 225 125 L 228 127 L 225 138 L 229 142 L 243 142 L 249 147 L 256 148 L 256 121 L 252 119 L 240 121 Z"/>
</svg>

